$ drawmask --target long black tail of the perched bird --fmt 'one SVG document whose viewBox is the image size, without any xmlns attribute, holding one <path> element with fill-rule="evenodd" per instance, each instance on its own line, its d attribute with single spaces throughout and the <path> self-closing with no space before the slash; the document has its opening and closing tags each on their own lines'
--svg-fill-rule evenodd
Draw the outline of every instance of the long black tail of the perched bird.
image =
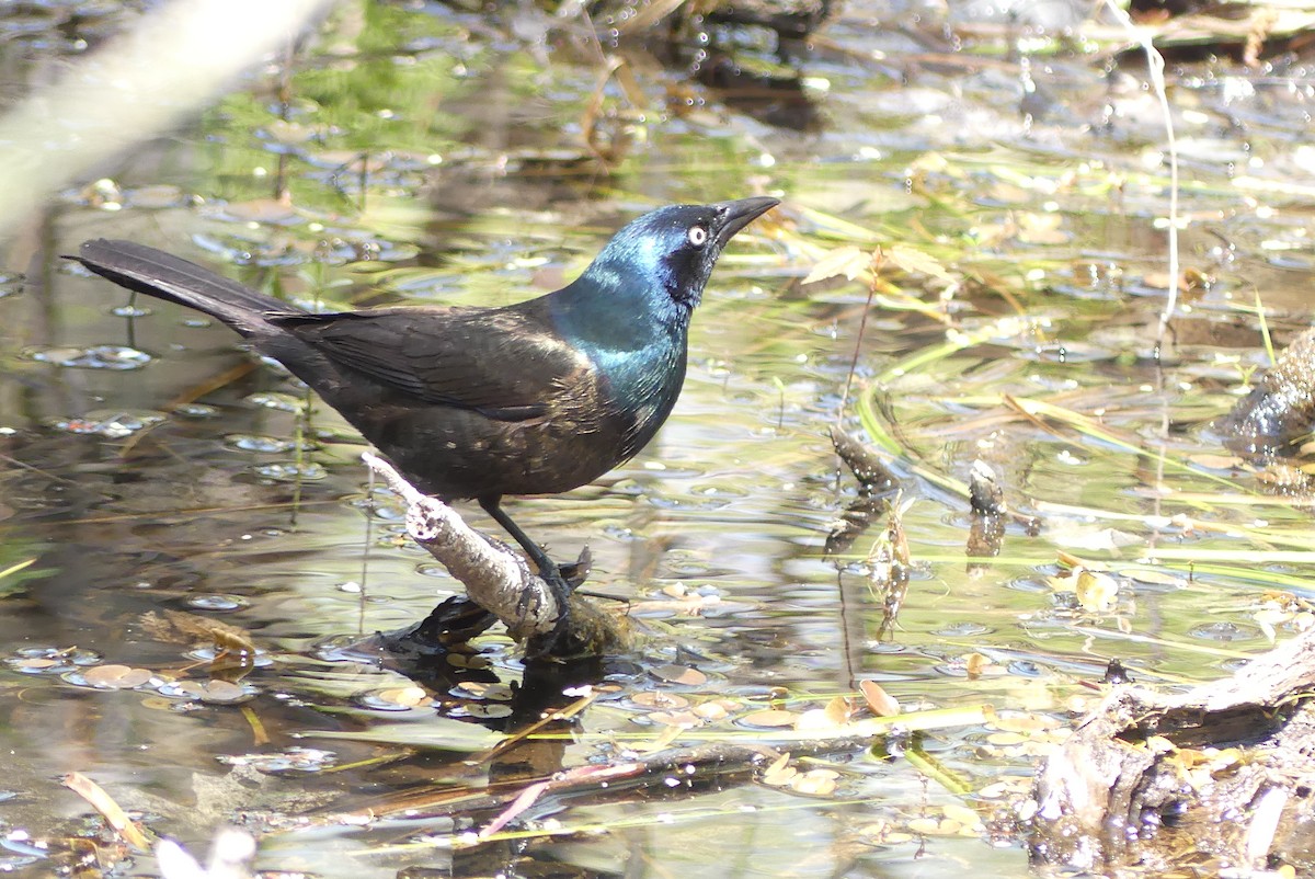
<svg viewBox="0 0 1315 879">
<path fill-rule="evenodd" d="M 263 336 L 270 332 L 268 317 L 297 312 L 209 268 L 132 241 L 88 241 L 71 259 L 120 287 L 204 312 L 243 336 Z"/>
</svg>

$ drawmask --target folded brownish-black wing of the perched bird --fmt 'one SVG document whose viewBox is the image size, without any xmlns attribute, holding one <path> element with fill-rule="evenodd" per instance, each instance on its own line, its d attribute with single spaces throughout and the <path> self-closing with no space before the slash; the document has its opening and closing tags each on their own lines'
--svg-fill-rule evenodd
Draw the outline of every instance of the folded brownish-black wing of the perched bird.
<svg viewBox="0 0 1315 879">
<path fill-rule="evenodd" d="M 514 312 L 391 309 L 279 317 L 339 366 L 437 405 L 500 421 L 548 414 L 589 380 L 588 357 Z"/>
</svg>

